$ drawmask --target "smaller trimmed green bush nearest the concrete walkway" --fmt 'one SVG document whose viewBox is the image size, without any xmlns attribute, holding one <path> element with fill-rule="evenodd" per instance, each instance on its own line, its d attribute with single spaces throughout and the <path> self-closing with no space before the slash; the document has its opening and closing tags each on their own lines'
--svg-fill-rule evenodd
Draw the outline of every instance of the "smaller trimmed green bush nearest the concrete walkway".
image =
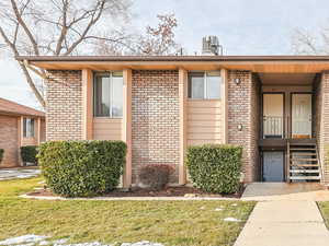
<svg viewBox="0 0 329 246">
<path fill-rule="evenodd" d="M 241 147 L 220 144 L 190 147 L 186 166 L 193 184 L 206 192 L 238 191 L 241 155 Z"/>
</svg>

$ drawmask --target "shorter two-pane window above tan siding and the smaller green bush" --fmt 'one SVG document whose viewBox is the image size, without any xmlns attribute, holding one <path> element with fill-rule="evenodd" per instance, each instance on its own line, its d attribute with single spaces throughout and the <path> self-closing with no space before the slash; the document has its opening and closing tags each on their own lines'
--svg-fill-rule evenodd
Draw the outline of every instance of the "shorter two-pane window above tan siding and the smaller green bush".
<svg viewBox="0 0 329 246">
<path fill-rule="evenodd" d="M 220 98 L 220 72 L 189 73 L 189 97 L 194 99 Z"/>
</svg>

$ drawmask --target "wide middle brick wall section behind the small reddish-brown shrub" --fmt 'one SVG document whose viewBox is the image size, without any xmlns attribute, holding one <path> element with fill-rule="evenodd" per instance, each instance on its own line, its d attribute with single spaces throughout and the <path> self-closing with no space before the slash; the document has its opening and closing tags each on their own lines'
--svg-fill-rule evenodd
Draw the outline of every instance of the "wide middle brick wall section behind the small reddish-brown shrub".
<svg viewBox="0 0 329 246">
<path fill-rule="evenodd" d="M 178 183 L 178 71 L 133 71 L 133 183 L 147 164 L 170 164 Z"/>
</svg>

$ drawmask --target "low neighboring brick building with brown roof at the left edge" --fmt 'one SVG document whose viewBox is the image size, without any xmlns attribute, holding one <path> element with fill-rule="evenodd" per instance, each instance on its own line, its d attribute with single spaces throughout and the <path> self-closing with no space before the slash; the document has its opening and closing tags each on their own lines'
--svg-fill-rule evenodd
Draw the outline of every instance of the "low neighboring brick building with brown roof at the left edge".
<svg viewBox="0 0 329 246">
<path fill-rule="evenodd" d="M 1 167 L 21 166 L 20 148 L 45 141 L 45 114 L 0 98 L 0 149 L 4 150 Z"/>
</svg>

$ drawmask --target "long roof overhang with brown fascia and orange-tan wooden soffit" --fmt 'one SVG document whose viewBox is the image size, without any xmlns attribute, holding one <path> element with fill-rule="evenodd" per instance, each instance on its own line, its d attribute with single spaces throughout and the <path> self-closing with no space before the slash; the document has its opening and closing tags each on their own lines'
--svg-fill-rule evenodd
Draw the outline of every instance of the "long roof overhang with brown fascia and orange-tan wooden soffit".
<svg viewBox="0 0 329 246">
<path fill-rule="evenodd" d="M 249 70 L 263 73 L 317 73 L 329 70 L 329 56 L 116 56 L 16 57 L 48 70 Z"/>
</svg>

